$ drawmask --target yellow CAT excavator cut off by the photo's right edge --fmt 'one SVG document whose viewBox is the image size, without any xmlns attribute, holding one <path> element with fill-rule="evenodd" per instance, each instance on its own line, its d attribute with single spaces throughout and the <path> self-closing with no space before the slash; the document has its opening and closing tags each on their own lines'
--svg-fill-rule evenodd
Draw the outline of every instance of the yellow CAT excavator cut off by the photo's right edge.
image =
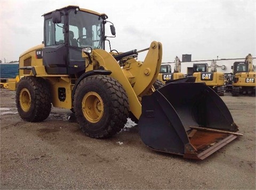
<svg viewBox="0 0 256 190">
<path fill-rule="evenodd" d="M 256 72 L 254 71 L 252 60 L 252 55 L 248 54 L 244 62 L 235 62 L 233 64 L 232 96 L 239 96 L 239 94 L 255 96 Z"/>
</svg>

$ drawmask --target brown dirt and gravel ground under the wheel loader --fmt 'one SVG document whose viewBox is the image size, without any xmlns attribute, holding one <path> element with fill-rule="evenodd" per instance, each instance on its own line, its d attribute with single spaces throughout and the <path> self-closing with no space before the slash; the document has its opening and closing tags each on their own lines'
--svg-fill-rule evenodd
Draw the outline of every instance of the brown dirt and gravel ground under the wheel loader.
<svg viewBox="0 0 256 190">
<path fill-rule="evenodd" d="M 15 92 L 0 92 L 1 189 L 256 189 L 255 97 L 222 97 L 244 135 L 195 161 L 150 150 L 131 122 L 107 140 L 85 136 L 66 109 L 24 122 Z"/>
</svg>

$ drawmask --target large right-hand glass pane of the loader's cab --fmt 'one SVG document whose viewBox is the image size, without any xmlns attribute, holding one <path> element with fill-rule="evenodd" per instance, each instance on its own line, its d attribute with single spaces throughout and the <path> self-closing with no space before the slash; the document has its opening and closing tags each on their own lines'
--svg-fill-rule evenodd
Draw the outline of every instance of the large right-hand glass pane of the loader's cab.
<svg viewBox="0 0 256 190">
<path fill-rule="evenodd" d="M 102 19 L 83 11 L 69 11 L 69 45 L 102 49 Z"/>
</svg>

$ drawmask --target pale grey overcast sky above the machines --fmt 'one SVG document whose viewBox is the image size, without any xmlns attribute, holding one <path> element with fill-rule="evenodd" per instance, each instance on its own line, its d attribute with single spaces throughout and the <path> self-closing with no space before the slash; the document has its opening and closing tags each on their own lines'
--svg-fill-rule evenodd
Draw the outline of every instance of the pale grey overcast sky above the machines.
<svg viewBox="0 0 256 190">
<path fill-rule="evenodd" d="M 106 13 L 116 28 L 118 51 L 163 44 L 162 62 L 191 54 L 192 60 L 256 56 L 256 1 L 83 0 L 0 1 L 0 59 L 19 55 L 43 41 L 42 15 L 67 5 Z M 140 57 L 139 57 L 140 58 Z"/>
</svg>

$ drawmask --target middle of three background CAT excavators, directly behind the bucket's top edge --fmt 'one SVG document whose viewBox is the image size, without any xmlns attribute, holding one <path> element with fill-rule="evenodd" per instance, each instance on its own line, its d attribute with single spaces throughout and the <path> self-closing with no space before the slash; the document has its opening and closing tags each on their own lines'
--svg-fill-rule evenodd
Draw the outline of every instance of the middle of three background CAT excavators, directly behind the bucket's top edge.
<svg viewBox="0 0 256 190">
<path fill-rule="evenodd" d="M 217 72 L 216 66 L 217 64 L 214 59 L 211 62 L 211 72 L 208 70 L 207 63 L 193 64 L 193 76 L 196 77 L 196 82 L 205 82 L 205 84 L 218 93 L 219 96 L 224 96 L 224 73 Z"/>
</svg>

